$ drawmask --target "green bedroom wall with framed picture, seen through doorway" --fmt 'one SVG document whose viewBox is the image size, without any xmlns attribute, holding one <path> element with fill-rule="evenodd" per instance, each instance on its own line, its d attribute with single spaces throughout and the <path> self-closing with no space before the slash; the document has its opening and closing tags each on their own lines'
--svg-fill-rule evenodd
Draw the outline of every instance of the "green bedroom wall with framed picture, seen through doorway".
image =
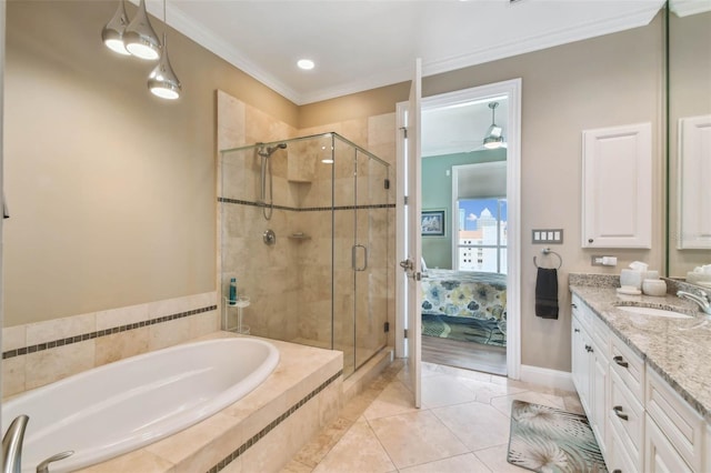
<svg viewBox="0 0 711 473">
<path fill-rule="evenodd" d="M 452 167 L 505 159 L 505 149 L 422 158 L 422 210 L 445 209 L 447 229 L 444 236 L 422 236 L 422 256 L 428 268 L 452 269 Z"/>
</svg>

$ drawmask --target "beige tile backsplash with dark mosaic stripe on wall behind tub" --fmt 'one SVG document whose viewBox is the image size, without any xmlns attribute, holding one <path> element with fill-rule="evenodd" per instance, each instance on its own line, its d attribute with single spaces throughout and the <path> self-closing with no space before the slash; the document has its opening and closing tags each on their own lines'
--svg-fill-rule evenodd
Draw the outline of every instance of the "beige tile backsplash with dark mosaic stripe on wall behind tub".
<svg viewBox="0 0 711 473">
<path fill-rule="evenodd" d="M 3 328 L 2 395 L 218 329 L 216 292 Z"/>
</svg>

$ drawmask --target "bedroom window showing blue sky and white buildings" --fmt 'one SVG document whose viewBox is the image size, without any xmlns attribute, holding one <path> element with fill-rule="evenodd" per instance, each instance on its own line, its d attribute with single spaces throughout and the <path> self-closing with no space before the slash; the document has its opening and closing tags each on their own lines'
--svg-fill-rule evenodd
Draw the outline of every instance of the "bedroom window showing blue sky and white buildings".
<svg viewBox="0 0 711 473">
<path fill-rule="evenodd" d="M 457 269 L 507 272 L 507 200 L 498 198 L 457 201 L 459 231 Z"/>
</svg>

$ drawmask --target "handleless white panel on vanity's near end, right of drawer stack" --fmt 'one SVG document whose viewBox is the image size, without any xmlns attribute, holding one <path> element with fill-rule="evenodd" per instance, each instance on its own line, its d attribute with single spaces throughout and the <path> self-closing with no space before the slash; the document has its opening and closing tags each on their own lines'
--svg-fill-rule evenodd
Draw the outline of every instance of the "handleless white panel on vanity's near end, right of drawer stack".
<svg viewBox="0 0 711 473">
<path fill-rule="evenodd" d="M 703 471 L 705 422 L 662 378 L 647 369 L 649 415 L 693 471 Z"/>
</svg>

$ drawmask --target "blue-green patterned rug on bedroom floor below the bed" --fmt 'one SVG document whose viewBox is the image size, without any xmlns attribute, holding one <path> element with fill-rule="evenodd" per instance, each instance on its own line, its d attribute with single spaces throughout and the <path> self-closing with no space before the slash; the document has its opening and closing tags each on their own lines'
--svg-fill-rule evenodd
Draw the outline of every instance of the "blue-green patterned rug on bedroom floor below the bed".
<svg viewBox="0 0 711 473">
<path fill-rule="evenodd" d="M 422 314 L 422 334 L 487 345 L 507 345 L 507 335 L 501 332 L 495 320 Z"/>
</svg>

